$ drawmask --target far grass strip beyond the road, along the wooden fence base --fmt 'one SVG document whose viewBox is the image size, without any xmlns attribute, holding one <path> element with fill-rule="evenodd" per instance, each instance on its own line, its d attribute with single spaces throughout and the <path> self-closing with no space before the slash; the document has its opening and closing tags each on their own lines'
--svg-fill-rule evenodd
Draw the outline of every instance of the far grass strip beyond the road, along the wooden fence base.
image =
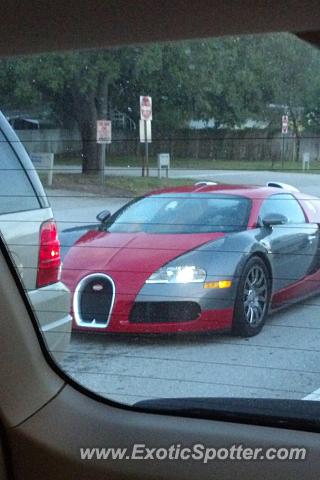
<svg viewBox="0 0 320 480">
<path fill-rule="evenodd" d="M 56 165 L 81 165 L 80 155 L 56 155 Z M 141 167 L 141 159 L 137 157 L 119 157 L 108 156 L 106 160 L 106 166 L 117 167 Z M 150 167 L 156 167 L 156 158 L 150 158 Z M 262 162 L 255 162 L 249 160 L 241 161 L 227 161 L 227 160 L 212 160 L 212 159 L 194 159 L 194 158 L 174 158 L 171 161 L 172 168 L 185 168 L 185 169 L 199 169 L 199 170 L 273 170 L 273 171 L 287 171 L 287 172 L 301 172 L 301 164 L 293 162 L 285 162 L 281 165 L 281 162 L 276 162 L 272 167 L 271 160 L 265 160 Z M 320 172 L 320 162 L 313 162 L 309 170 L 310 173 Z"/>
</svg>

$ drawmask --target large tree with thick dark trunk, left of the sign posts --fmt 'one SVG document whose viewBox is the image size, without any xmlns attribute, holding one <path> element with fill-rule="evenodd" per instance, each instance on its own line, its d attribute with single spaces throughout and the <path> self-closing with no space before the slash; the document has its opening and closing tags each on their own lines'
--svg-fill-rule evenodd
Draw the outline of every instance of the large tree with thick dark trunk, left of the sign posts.
<svg viewBox="0 0 320 480">
<path fill-rule="evenodd" d="M 48 54 L 35 57 L 35 88 L 61 115 L 76 121 L 82 139 L 82 171 L 99 170 L 96 122 L 108 118 L 108 94 L 119 76 L 119 51 Z"/>
</svg>

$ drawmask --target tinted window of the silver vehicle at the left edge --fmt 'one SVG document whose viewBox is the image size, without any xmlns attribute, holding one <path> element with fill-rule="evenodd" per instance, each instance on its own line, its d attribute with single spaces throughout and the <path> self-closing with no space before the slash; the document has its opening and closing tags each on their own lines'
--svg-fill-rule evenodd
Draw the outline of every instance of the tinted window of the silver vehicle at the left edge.
<svg viewBox="0 0 320 480">
<path fill-rule="evenodd" d="M 40 208 L 30 180 L 0 132 L 0 214 Z"/>
</svg>

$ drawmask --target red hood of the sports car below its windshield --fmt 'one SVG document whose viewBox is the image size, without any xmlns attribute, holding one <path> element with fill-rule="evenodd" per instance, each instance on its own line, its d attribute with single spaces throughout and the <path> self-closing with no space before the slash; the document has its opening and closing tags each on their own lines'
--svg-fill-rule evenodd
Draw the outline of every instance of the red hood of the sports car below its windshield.
<svg viewBox="0 0 320 480">
<path fill-rule="evenodd" d="M 105 272 L 145 273 L 224 233 L 149 234 L 90 231 L 69 250 L 64 268 Z"/>
</svg>

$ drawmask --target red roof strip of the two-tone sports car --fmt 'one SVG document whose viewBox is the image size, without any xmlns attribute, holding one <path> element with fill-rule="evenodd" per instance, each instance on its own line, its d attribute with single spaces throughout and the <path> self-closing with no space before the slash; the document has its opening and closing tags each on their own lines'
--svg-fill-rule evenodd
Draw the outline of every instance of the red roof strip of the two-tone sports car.
<svg viewBox="0 0 320 480">
<path fill-rule="evenodd" d="M 149 195 L 159 195 L 163 193 L 221 193 L 225 195 L 239 195 L 250 199 L 264 199 L 274 194 L 289 193 L 291 190 L 278 187 L 267 187 L 261 185 L 233 185 L 233 184 L 217 184 L 217 185 L 183 185 L 180 187 L 164 188 L 154 190 Z"/>
</svg>

